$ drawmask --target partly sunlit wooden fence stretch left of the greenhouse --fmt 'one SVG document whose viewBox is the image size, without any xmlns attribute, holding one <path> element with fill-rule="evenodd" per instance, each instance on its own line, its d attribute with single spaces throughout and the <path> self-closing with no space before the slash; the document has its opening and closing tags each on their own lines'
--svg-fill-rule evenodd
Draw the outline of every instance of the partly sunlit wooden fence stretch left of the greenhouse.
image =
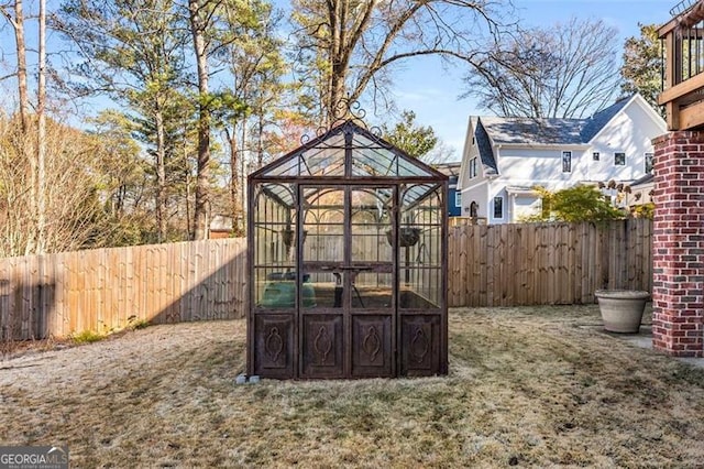
<svg viewBox="0 0 704 469">
<path fill-rule="evenodd" d="M 244 239 L 0 259 L 1 340 L 230 319 L 246 309 Z"/>
</svg>

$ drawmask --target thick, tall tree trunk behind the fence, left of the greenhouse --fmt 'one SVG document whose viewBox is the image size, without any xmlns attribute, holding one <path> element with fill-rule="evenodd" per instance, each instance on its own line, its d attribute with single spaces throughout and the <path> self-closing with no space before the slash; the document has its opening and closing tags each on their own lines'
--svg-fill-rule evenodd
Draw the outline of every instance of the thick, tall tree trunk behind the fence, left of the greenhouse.
<svg viewBox="0 0 704 469">
<path fill-rule="evenodd" d="M 205 23 L 198 0 L 188 0 L 190 32 L 194 37 L 196 65 L 198 68 L 198 161 L 196 166 L 196 207 L 194 211 L 194 239 L 208 237 L 208 209 L 210 206 L 210 109 L 208 105 L 208 56 L 204 37 Z"/>
</svg>

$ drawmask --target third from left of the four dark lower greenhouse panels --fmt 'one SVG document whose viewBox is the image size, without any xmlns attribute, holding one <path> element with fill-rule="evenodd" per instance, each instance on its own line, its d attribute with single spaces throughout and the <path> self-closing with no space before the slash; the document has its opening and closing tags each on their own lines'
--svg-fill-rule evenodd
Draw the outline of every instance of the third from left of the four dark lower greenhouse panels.
<svg viewBox="0 0 704 469">
<path fill-rule="evenodd" d="M 394 375 L 393 327 L 391 315 L 352 316 L 352 375 L 388 378 Z"/>
</svg>

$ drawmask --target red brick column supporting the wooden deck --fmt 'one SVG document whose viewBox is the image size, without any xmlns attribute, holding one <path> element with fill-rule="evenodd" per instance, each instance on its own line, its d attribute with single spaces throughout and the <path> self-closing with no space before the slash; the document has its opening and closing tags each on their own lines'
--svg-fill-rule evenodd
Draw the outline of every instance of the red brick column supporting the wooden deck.
<svg viewBox="0 0 704 469">
<path fill-rule="evenodd" d="M 670 132 L 652 143 L 652 345 L 704 357 L 704 132 Z"/>
</svg>

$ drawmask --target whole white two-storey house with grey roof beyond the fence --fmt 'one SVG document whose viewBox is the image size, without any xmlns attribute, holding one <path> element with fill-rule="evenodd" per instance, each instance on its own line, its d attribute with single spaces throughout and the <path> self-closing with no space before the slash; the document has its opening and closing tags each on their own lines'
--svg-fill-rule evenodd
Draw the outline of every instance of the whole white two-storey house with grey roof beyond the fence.
<svg viewBox="0 0 704 469">
<path fill-rule="evenodd" d="M 540 209 L 536 186 L 629 185 L 651 172 L 651 141 L 666 131 L 640 95 L 588 119 L 473 116 L 458 181 L 462 215 L 515 222 Z"/>
</svg>

